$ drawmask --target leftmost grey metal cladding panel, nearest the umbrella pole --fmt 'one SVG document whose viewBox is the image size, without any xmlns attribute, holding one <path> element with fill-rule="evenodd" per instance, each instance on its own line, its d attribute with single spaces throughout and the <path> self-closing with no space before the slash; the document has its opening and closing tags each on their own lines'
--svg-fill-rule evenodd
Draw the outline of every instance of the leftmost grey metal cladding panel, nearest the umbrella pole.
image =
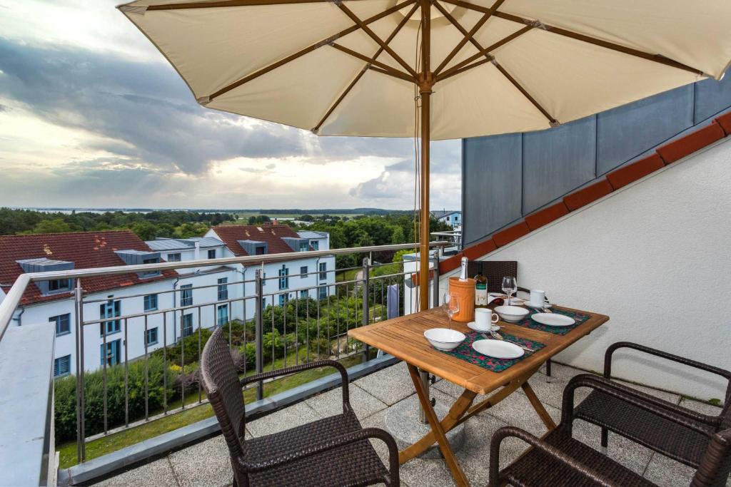
<svg viewBox="0 0 731 487">
<path fill-rule="evenodd" d="M 467 241 L 482 237 L 482 229 L 520 218 L 522 138 L 508 134 L 464 139 L 462 208 L 470 215 L 469 226 L 463 226 Z"/>
</svg>

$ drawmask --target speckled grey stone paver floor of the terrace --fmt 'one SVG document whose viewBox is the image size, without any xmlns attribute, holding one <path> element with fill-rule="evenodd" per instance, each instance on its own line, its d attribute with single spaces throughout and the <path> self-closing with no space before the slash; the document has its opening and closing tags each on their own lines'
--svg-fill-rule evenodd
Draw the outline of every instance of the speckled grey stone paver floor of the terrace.
<svg viewBox="0 0 731 487">
<path fill-rule="evenodd" d="M 544 404 L 551 417 L 560 421 L 561 396 L 567 382 L 574 375 L 583 373 L 561 364 L 553 364 L 553 380 L 546 383 L 542 372 L 531 378 L 531 386 Z M 708 415 L 717 415 L 719 407 L 710 404 L 681 399 L 677 394 L 656 391 L 644 386 L 635 386 L 642 391 L 661 397 L 670 402 Z M 433 387 L 431 396 L 444 405 L 450 406 L 461 394 L 461 388 L 444 380 Z M 396 364 L 382 371 L 363 377 L 350 385 L 351 404 L 363 426 L 386 429 L 388 406 L 395 403 L 413 403 L 417 399 L 405 364 Z M 577 390 L 577 400 L 583 399 L 588 389 Z M 480 399 L 480 398 L 478 398 Z M 341 412 L 340 388 L 312 397 L 306 402 L 294 404 L 284 410 L 272 413 L 257 421 L 247 423 L 247 434 L 259 437 L 281 432 L 327 415 Z M 545 434 L 546 428 L 531 407 L 523 391 L 516 391 L 496 406 L 482 411 L 470 418 L 465 425 L 465 445 L 457 452 L 457 457 L 472 485 L 488 483 L 490 440 L 493 433 L 507 425 L 518 426 L 532 434 Z M 592 448 L 599 449 L 599 427 L 584 421 L 576 421 L 574 436 Z M 387 449 L 379 440 L 371 441 L 376 451 L 387 464 Z M 501 467 L 506 466 L 526 449 L 520 440 L 508 438 L 501 445 Z M 694 469 L 678 464 L 647 448 L 636 445 L 630 440 L 610 433 L 609 456 L 638 473 L 643 473 L 659 486 L 688 485 Z M 121 486 L 225 486 L 231 482 L 231 466 L 228 450 L 222 437 L 192 445 L 164 459 L 159 459 L 123 472 L 113 478 L 96 484 L 105 487 Z M 401 466 L 401 480 L 404 486 L 453 486 L 450 471 L 442 459 L 427 460 L 416 458 Z M 731 487 L 731 480 L 727 483 Z"/>
</svg>

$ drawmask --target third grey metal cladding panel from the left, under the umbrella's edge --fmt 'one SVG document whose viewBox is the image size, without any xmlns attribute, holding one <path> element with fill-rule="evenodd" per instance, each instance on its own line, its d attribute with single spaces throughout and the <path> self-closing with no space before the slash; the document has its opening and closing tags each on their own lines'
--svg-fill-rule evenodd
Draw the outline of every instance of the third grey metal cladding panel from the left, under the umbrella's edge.
<svg viewBox="0 0 731 487">
<path fill-rule="evenodd" d="M 693 125 L 693 85 L 596 115 L 596 172 L 603 175 Z"/>
</svg>

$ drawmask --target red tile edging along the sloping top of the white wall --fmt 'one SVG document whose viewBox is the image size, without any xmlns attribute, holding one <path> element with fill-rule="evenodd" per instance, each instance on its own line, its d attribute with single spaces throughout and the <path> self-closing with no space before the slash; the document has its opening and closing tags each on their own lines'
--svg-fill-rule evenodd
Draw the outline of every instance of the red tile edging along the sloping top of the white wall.
<svg viewBox="0 0 731 487">
<path fill-rule="evenodd" d="M 594 181 L 591 185 L 564 196 L 561 202 L 541 208 L 537 212 L 526 216 L 523 221 L 514 223 L 510 228 L 497 231 L 491 239 L 464 248 L 462 252 L 440 262 L 439 272 L 444 274 L 457 269 L 460 266 L 460 259 L 464 256 L 472 260 L 480 258 L 496 248 L 507 245 L 531 231 L 568 215 L 569 212 L 578 210 L 629 183 L 635 182 L 640 177 L 645 177 L 658 169 L 662 169 L 667 164 L 672 164 L 678 159 L 689 156 L 695 151 L 730 135 L 731 112 L 727 112 L 713 120 L 708 126 L 657 147 L 653 155 L 616 169 L 606 177 Z"/>
</svg>

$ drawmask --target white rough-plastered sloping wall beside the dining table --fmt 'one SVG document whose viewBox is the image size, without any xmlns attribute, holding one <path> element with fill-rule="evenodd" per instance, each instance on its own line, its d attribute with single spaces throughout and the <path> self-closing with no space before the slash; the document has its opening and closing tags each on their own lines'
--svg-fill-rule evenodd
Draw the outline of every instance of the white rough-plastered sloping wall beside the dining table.
<svg viewBox="0 0 731 487">
<path fill-rule="evenodd" d="M 720 142 L 482 260 L 516 260 L 520 285 L 610 316 L 558 361 L 601 371 L 607 345 L 627 340 L 731 369 L 730 213 L 731 143 Z M 724 399 L 716 376 L 637 353 L 616 353 L 613 373 Z"/>
</svg>

